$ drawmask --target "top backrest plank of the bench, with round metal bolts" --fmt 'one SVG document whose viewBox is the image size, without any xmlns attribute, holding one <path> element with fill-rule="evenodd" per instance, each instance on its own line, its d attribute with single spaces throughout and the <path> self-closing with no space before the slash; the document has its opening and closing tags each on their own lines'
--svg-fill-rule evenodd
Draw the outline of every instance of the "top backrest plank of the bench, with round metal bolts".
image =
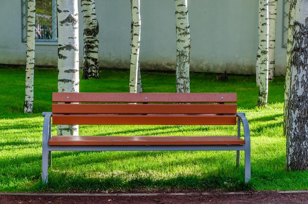
<svg viewBox="0 0 308 204">
<path fill-rule="evenodd" d="M 229 103 L 236 93 L 53 93 L 53 102 Z"/>
</svg>

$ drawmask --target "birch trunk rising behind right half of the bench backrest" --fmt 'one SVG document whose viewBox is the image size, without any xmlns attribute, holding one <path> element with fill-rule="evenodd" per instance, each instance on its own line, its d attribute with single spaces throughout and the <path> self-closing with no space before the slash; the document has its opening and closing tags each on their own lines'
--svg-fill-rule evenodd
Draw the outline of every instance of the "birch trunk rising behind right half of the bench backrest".
<svg viewBox="0 0 308 204">
<path fill-rule="evenodd" d="M 177 33 L 176 89 L 178 93 L 189 93 L 190 32 L 187 0 L 175 0 Z"/>
</svg>

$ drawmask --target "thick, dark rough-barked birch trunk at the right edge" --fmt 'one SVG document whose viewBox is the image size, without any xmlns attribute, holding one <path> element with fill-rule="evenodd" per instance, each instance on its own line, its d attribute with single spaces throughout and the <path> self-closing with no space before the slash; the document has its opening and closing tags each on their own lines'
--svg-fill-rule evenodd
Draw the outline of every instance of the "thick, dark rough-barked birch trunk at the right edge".
<svg viewBox="0 0 308 204">
<path fill-rule="evenodd" d="M 308 1 L 297 0 L 286 124 L 287 170 L 308 170 Z M 292 15 L 293 16 L 293 15 Z"/>
</svg>

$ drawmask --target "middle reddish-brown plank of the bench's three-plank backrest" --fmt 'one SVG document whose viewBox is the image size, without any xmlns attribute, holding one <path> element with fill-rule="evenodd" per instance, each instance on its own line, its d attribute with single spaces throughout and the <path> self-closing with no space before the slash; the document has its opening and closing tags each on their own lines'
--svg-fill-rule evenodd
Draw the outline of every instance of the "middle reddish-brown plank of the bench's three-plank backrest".
<svg viewBox="0 0 308 204">
<path fill-rule="evenodd" d="M 53 104 L 54 114 L 236 114 L 236 104 Z"/>
</svg>

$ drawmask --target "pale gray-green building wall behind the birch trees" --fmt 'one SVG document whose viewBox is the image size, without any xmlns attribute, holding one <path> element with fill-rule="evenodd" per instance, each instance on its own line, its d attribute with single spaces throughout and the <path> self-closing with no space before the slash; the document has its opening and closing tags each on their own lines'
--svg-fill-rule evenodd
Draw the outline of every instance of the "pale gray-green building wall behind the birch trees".
<svg viewBox="0 0 308 204">
<path fill-rule="evenodd" d="M 97 0 L 99 65 L 129 67 L 130 2 Z M 0 8 L 0 64 L 26 64 L 21 41 L 21 0 L 3 1 Z M 258 0 L 188 0 L 191 35 L 191 71 L 255 73 L 258 46 Z M 80 12 L 80 66 L 82 66 L 82 13 Z M 141 1 L 141 69 L 176 67 L 175 3 Z M 36 44 L 36 66 L 57 66 L 57 45 Z M 276 74 L 284 74 L 286 49 L 282 48 L 282 2 L 278 1 Z"/>
</svg>

